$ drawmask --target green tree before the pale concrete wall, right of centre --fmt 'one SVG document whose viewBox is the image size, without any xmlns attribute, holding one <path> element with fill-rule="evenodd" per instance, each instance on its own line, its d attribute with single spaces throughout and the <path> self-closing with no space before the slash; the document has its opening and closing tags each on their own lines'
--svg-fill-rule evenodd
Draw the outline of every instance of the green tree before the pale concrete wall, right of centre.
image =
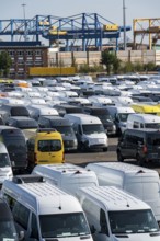
<svg viewBox="0 0 160 241">
<path fill-rule="evenodd" d="M 110 74 L 112 69 L 115 71 L 115 68 L 117 65 L 119 65 L 119 61 L 117 60 L 115 53 L 105 50 L 102 51 L 101 64 L 106 67 L 107 74 Z"/>
</svg>

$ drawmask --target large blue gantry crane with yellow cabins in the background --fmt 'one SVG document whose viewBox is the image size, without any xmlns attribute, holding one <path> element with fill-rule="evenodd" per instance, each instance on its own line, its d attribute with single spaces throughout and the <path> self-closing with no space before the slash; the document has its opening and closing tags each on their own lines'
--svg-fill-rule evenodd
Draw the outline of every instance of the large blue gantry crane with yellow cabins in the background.
<svg viewBox="0 0 160 241">
<path fill-rule="evenodd" d="M 80 13 L 67 18 L 55 15 L 35 15 L 33 19 L 0 20 L 0 35 L 10 36 L 11 45 L 14 42 L 39 43 L 43 37 L 53 43 L 65 42 L 65 50 L 72 50 L 76 43 L 85 51 L 91 46 L 103 49 L 103 41 L 115 39 L 118 49 L 121 32 L 130 31 L 130 26 L 118 26 L 98 13 Z M 19 39 L 18 39 L 19 38 Z"/>
</svg>

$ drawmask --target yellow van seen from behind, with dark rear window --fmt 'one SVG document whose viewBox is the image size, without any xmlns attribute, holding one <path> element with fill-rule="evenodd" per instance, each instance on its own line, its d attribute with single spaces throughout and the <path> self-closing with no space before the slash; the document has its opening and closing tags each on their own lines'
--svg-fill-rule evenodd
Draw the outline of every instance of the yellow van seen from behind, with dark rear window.
<svg viewBox="0 0 160 241">
<path fill-rule="evenodd" d="M 36 164 L 64 163 L 64 142 L 56 129 L 37 129 L 27 139 L 28 171 Z"/>
</svg>

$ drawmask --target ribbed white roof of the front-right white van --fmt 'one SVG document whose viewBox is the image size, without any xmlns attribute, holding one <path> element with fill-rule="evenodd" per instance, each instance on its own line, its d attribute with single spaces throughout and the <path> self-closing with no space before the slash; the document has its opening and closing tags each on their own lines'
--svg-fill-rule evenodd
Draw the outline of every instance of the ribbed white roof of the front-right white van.
<svg viewBox="0 0 160 241">
<path fill-rule="evenodd" d="M 107 210 L 137 210 L 150 209 L 150 207 L 138 197 L 124 192 L 115 186 L 91 186 L 81 187 L 78 196 L 87 196 L 94 203 L 99 203 Z"/>
</svg>

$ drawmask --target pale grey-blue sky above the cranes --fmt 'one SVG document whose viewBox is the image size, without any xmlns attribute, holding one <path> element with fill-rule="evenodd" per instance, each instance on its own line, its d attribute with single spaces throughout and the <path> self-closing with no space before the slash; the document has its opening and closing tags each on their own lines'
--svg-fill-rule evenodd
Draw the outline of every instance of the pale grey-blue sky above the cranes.
<svg viewBox="0 0 160 241">
<path fill-rule="evenodd" d="M 0 20 L 22 19 L 35 15 L 70 16 L 79 13 L 98 13 L 123 25 L 123 0 L 0 0 Z M 133 27 L 133 19 L 160 18 L 160 0 L 125 0 L 126 25 Z M 133 33 L 133 31 L 132 31 Z M 130 34 L 132 34 L 130 33 Z"/>
</svg>

